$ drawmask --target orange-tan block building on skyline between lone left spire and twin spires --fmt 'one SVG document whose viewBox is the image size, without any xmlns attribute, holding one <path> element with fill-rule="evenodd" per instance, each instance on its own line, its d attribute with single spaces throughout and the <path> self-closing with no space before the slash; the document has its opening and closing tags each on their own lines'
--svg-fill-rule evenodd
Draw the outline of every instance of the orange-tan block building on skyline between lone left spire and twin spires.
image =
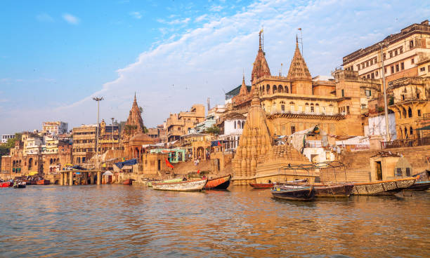
<svg viewBox="0 0 430 258">
<path fill-rule="evenodd" d="M 188 133 L 197 123 L 204 121 L 204 105 L 194 104 L 190 111 L 181 111 L 170 114 L 167 118 L 167 140 L 169 142 L 180 140 L 181 135 Z"/>
</svg>

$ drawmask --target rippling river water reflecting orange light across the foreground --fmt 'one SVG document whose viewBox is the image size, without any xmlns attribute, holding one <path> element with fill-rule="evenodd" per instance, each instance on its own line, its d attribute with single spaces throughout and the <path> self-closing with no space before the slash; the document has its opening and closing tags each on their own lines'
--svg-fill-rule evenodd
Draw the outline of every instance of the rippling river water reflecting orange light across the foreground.
<svg viewBox="0 0 430 258">
<path fill-rule="evenodd" d="M 27 186 L 0 203 L 0 257 L 430 256 L 430 192 L 304 203 L 247 186 Z"/>
</svg>

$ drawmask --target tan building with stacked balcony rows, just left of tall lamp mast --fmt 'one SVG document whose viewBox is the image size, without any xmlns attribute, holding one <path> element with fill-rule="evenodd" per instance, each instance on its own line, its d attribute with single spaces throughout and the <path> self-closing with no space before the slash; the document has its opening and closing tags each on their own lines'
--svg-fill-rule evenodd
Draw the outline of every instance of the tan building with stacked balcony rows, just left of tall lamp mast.
<svg viewBox="0 0 430 258">
<path fill-rule="evenodd" d="M 73 163 L 85 163 L 96 153 L 97 125 L 73 128 Z"/>
</svg>

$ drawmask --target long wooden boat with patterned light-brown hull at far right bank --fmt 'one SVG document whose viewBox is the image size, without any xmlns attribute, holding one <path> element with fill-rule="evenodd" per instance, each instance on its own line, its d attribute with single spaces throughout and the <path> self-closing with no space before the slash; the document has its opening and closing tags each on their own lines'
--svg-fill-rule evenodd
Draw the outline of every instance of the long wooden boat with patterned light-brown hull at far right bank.
<svg viewBox="0 0 430 258">
<path fill-rule="evenodd" d="M 352 194 L 364 196 L 386 196 L 407 189 L 417 181 L 417 177 L 392 179 L 377 182 L 357 183 L 353 186 Z"/>
</svg>

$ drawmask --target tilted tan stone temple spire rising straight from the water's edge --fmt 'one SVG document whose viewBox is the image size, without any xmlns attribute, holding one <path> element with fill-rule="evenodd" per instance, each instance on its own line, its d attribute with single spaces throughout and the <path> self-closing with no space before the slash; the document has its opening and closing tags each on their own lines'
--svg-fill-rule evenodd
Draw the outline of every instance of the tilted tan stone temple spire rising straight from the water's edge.
<svg viewBox="0 0 430 258">
<path fill-rule="evenodd" d="M 257 163 L 272 148 L 273 139 L 266 123 L 266 114 L 261 108 L 259 93 L 255 90 L 242 137 L 239 140 L 233 168 L 235 184 L 247 184 L 255 175 Z"/>
</svg>

